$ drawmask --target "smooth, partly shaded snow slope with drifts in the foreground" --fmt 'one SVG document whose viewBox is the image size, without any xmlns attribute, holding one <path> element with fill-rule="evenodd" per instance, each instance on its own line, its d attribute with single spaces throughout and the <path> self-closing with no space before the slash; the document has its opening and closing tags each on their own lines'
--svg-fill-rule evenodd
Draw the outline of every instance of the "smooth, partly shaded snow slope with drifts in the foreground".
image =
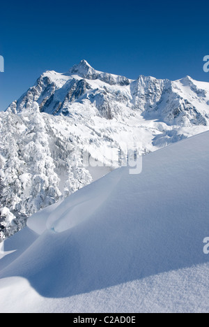
<svg viewBox="0 0 209 327">
<path fill-rule="evenodd" d="M 209 133 L 119 168 L 3 243 L 1 312 L 209 312 Z"/>
</svg>

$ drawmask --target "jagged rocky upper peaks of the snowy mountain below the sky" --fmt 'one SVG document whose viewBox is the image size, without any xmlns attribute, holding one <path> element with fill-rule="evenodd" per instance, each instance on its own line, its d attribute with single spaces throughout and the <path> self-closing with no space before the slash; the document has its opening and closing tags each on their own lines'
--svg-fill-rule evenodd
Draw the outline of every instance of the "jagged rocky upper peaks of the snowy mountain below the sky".
<svg viewBox="0 0 209 327">
<path fill-rule="evenodd" d="M 25 112 L 38 103 L 40 112 L 52 115 L 121 119 L 133 114 L 132 110 L 139 110 L 146 119 L 158 119 L 169 125 L 207 126 L 208 91 L 208 83 L 196 82 L 189 76 L 175 82 L 142 75 L 130 80 L 95 71 L 82 60 L 68 73 L 43 73 L 36 85 L 13 102 L 8 111 Z"/>
</svg>

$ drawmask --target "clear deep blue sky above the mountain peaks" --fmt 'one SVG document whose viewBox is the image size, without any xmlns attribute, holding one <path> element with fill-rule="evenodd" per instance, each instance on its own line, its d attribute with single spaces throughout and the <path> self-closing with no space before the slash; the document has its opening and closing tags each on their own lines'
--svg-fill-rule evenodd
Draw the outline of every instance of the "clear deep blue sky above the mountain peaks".
<svg viewBox="0 0 209 327">
<path fill-rule="evenodd" d="M 209 1 L 1 1 L 0 110 L 43 71 L 81 59 L 100 71 L 209 82 Z"/>
</svg>

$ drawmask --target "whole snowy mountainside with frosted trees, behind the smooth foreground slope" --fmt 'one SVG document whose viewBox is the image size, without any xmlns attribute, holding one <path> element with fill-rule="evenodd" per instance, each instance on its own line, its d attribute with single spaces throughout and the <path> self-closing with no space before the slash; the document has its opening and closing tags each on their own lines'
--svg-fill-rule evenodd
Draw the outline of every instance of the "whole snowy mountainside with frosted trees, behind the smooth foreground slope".
<svg viewBox="0 0 209 327">
<path fill-rule="evenodd" d="M 43 73 L 0 112 L 0 238 L 109 171 L 85 168 L 82 151 L 113 166 L 111 147 L 134 142 L 146 154 L 208 129 L 209 83 L 130 80 L 85 60 Z"/>
</svg>

